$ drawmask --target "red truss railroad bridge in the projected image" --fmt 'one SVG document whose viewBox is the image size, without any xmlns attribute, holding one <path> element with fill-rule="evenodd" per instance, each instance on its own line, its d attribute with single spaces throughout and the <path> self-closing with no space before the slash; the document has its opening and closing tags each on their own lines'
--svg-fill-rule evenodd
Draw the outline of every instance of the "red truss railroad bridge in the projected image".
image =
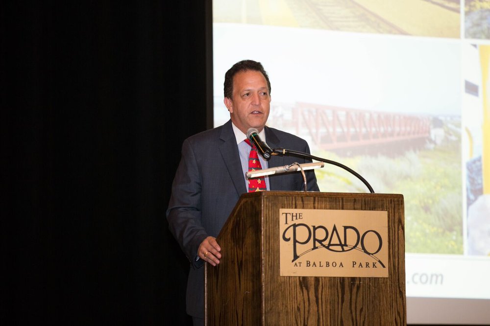
<svg viewBox="0 0 490 326">
<path fill-rule="evenodd" d="M 430 138 L 431 117 L 401 113 L 354 110 L 335 106 L 296 103 L 296 134 L 305 130 L 319 149 L 335 150 L 422 141 Z"/>
</svg>

